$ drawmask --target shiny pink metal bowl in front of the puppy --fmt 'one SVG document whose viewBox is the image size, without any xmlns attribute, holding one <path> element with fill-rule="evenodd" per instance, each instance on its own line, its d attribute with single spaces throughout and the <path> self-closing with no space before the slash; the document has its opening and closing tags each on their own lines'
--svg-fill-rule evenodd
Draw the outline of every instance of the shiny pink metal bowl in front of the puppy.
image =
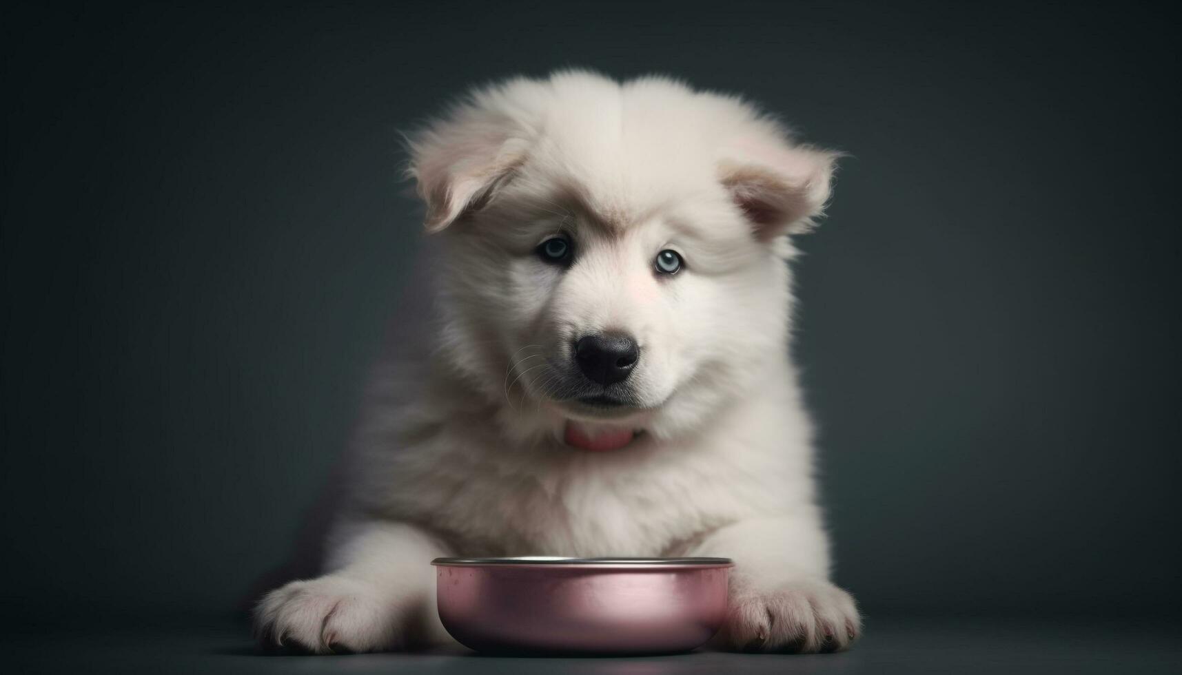
<svg viewBox="0 0 1182 675">
<path fill-rule="evenodd" d="M 440 619 L 485 653 L 668 654 L 727 614 L 728 558 L 436 558 Z"/>
</svg>

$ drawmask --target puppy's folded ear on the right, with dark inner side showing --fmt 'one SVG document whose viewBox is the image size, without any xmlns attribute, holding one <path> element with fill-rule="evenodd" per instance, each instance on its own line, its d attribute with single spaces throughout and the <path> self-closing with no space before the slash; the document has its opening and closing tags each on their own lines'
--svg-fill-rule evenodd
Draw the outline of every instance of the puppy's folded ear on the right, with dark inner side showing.
<svg viewBox="0 0 1182 675">
<path fill-rule="evenodd" d="M 760 241 L 812 229 L 829 201 L 840 152 L 780 138 L 735 144 L 720 163 L 722 184 Z"/>
</svg>

